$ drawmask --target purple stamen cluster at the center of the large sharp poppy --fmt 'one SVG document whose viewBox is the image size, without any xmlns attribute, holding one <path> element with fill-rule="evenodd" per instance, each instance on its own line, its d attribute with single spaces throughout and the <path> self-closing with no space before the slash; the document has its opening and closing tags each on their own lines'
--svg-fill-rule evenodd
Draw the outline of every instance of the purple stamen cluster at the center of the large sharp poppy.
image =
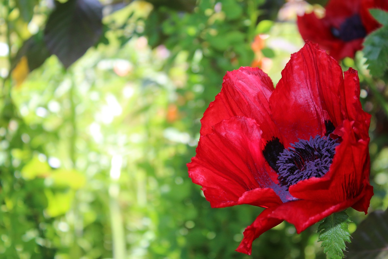
<svg viewBox="0 0 388 259">
<path fill-rule="evenodd" d="M 337 145 L 336 140 L 317 135 L 315 138 L 310 137 L 310 140 L 299 139 L 299 142 L 284 149 L 276 162 L 282 185 L 289 187 L 300 180 L 325 175 Z"/>
</svg>

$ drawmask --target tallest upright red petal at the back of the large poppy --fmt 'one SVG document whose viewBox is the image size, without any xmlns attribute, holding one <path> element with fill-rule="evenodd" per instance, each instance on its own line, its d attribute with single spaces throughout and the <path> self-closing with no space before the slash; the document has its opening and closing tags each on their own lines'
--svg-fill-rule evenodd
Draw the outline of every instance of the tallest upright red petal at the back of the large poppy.
<svg viewBox="0 0 388 259">
<path fill-rule="evenodd" d="M 272 119 L 289 141 L 285 146 L 297 142 L 298 138 L 324 136 L 325 120 L 329 119 L 324 108 L 329 107 L 335 121 L 340 120 L 339 96 L 335 96 L 333 89 L 338 92 L 342 85 L 340 65 L 320 50 L 318 44 L 307 42 L 291 55 L 270 97 Z"/>
</svg>

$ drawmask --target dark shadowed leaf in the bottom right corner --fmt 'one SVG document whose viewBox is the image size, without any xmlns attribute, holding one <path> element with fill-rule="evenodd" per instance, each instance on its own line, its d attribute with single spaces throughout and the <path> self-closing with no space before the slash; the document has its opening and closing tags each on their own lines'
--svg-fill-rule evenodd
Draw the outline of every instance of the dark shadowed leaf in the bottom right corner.
<svg viewBox="0 0 388 259">
<path fill-rule="evenodd" d="M 377 210 L 360 223 L 352 234 L 348 245 L 347 258 L 384 259 L 388 258 L 388 210 Z"/>
</svg>

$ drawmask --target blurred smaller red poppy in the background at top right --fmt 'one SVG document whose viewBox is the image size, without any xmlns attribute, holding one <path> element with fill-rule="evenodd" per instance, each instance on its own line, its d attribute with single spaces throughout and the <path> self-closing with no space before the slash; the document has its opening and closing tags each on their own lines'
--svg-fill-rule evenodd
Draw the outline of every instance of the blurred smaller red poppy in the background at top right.
<svg viewBox="0 0 388 259">
<path fill-rule="evenodd" d="M 388 1 L 331 0 L 322 19 L 314 12 L 298 16 L 299 32 L 304 40 L 317 42 L 337 60 L 353 58 L 362 49 L 365 36 L 380 26 L 369 13 L 371 8 L 388 10 Z"/>
</svg>

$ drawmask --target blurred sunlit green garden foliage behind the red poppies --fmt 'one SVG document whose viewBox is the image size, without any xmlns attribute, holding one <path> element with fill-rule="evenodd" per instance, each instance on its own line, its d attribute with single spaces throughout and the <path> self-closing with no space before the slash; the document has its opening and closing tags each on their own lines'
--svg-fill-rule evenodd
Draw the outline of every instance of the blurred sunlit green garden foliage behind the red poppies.
<svg viewBox="0 0 388 259">
<path fill-rule="evenodd" d="M 251 65 L 256 34 L 265 34 L 274 83 L 303 45 L 294 21 L 276 21 L 283 2 L 100 2 L 103 35 L 66 70 L 61 57 L 39 47 L 52 2 L 1 3 L 0 253 L 251 258 L 234 249 L 262 209 L 210 208 L 185 164 L 225 72 Z M 43 60 L 31 54 L 40 51 Z M 347 62 L 344 69 L 354 65 Z M 362 82 L 373 114 L 374 210 L 388 206 L 387 119 Z M 365 216 L 348 214 L 354 231 Z M 254 258 L 325 258 L 316 228 L 296 235 L 283 222 L 253 243 Z"/>
</svg>

